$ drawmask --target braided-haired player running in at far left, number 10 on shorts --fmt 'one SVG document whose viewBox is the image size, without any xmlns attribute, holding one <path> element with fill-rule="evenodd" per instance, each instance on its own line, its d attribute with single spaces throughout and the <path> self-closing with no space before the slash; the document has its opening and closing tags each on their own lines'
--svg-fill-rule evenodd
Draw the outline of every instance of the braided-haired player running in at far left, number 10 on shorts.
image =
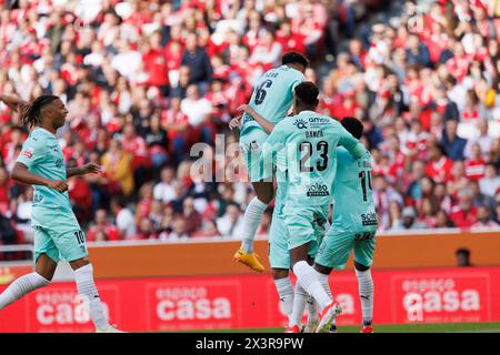
<svg viewBox="0 0 500 355">
<path fill-rule="evenodd" d="M 34 187 L 31 224 L 36 254 L 34 272 L 17 278 L 0 294 L 0 310 L 47 286 L 61 255 L 74 271 L 78 293 L 89 302 L 90 318 L 96 331 L 122 333 L 108 322 L 93 281 L 86 236 L 68 196 L 68 178 L 99 173 L 100 166 L 89 163 L 66 169 L 56 132 L 64 124 L 68 109 L 58 97 L 41 95 L 31 104 L 7 95 L 0 95 L 0 101 L 20 111 L 22 123 L 32 129 L 14 164 L 12 179 Z"/>
</svg>

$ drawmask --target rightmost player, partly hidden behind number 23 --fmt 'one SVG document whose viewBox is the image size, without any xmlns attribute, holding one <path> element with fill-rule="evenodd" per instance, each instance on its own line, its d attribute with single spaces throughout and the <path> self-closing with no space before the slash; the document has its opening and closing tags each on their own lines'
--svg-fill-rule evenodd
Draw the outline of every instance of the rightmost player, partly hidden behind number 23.
<svg viewBox="0 0 500 355">
<path fill-rule="evenodd" d="M 354 138 L 361 138 L 363 125 L 359 120 L 344 118 L 341 124 Z M 370 266 L 373 261 L 378 222 L 371 195 L 371 155 L 367 152 L 362 158 L 354 159 L 346 149 L 338 148 L 337 164 L 337 176 L 332 186 L 332 226 L 319 247 L 314 270 L 324 290 L 330 293 L 328 275 L 332 268 L 342 270 L 353 251 L 363 315 L 361 333 L 373 333 L 373 281 Z M 330 332 L 336 331 L 336 325 L 332 324 Z"/>
</svg>

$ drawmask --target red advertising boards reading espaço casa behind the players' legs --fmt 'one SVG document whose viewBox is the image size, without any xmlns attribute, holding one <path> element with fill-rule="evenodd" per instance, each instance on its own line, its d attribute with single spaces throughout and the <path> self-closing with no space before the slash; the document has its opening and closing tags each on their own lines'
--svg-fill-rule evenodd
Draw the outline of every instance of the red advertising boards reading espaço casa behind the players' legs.
<svg viewBox="0 0 500 355">
<path fill-rule="evenodd" d="M 500 321 L 500 267 L 374 271 L 376 324 Z M 361 323 L 352 272 L 330 284 L 343 313 Z M 286 323 L 269 275 L 107 280 L 97 285 L 112 324 L 128 332 L 279 327 Z M 3 290 L 6 285 L 0 286 Z M 0 332 L 92 332 L 72 283 L 38 290 L 0 312 Z"/>
</svg>

